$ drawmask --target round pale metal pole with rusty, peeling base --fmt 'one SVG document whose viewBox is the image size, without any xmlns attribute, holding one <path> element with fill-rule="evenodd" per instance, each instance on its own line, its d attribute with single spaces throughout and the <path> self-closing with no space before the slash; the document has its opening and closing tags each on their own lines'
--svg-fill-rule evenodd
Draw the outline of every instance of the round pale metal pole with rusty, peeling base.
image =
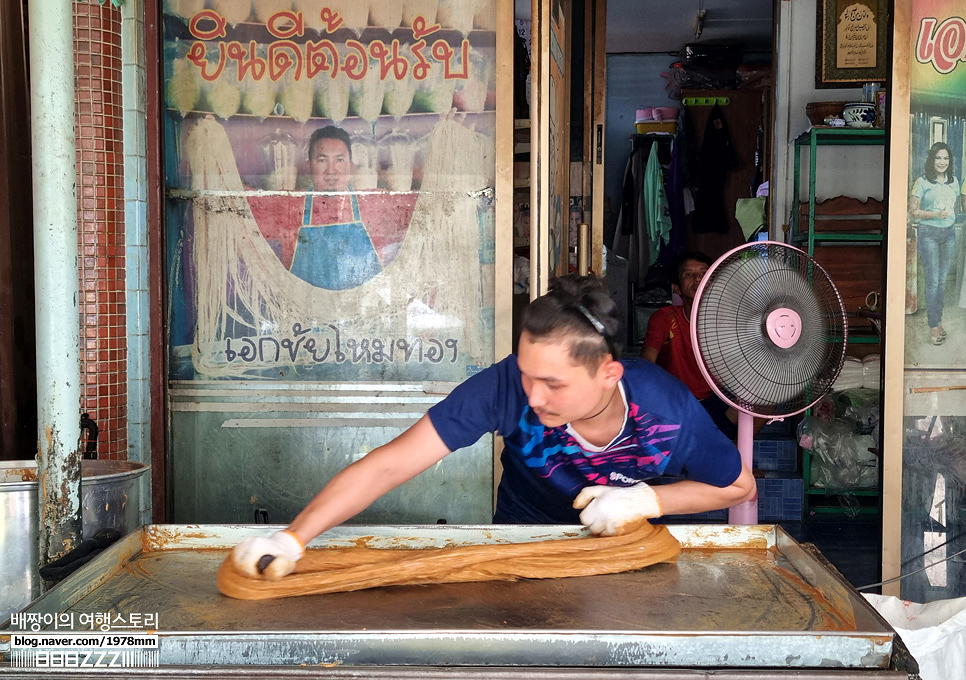
<svg viewBox="0 0 966 680">
<path fill-rule="evenodd" d="M 40 563 L 81 538 L 80 317 L 72 3 L 31 0 Z"/>
</svg>

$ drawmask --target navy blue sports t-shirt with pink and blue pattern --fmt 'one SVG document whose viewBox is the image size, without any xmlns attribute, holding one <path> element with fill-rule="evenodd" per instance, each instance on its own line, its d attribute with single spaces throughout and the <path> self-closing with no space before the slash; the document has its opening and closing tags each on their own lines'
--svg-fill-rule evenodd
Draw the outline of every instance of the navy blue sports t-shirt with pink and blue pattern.
<svg viewBox="0 0 966 680">
<path fill-rule="evenodd" d="M 566 425 L 540 423 L 527 403 L 515 355 L 470 377 L 429 409 L 450 451 L 487 432 L 503 436 L 494 522 L 579 524 L 573 500 L 591 484 L 632 486 L 661 478 L 725 487 L 738 478 L 738 450 L 682 382 L 650 361 L 622 363 L 627 419 L 602 451 L 586 450 Z"/>
</svg>

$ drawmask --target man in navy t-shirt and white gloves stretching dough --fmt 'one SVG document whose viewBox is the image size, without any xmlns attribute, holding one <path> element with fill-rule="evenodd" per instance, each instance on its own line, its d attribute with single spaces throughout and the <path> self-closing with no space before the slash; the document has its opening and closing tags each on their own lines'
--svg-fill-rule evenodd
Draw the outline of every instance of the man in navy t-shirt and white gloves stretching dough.
<svg viewBox="0 0 966 680">
<path fill-rule="evenodd" d="M 239 570 L 285 576 L 315 536 L 494 431 L 504 442 L 497 524 L 579 522 L 612 536 L 754 498 L 751 471 L 684 384 L 620 358 L 616 313 L 600 280 L 552 281 L 524 311 L 516 354 L 339 472 L 288 528 L 242 541 Z"/>
</svg>

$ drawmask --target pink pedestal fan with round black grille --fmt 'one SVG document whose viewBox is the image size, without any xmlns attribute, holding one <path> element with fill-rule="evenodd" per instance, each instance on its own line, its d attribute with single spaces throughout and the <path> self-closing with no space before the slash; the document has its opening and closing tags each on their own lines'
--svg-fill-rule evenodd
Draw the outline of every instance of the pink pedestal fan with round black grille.
<svg viewBox="0 0 966 680">
<path fill-rule="evenodd" d="M 782 420 L 829 390 L 845 360 L 848 320 L 828 273 L 798 248 L 747 243 L 714 262 L 691 313 L 691 342 L 711 389 L 738 410 L 738 450 L 752 467 L 754 419 Z M 757 496 L 729 510 L 758 522 Z"/>
</svg>

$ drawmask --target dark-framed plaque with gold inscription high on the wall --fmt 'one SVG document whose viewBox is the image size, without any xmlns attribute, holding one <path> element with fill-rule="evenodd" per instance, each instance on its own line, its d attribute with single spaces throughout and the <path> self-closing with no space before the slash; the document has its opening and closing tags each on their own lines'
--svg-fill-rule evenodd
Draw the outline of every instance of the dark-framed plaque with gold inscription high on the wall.
<svg viewBox="0 0 966 680">
<path fill-rule="evenodd" d="M 888 73 L 888 0 L 818 0 L 815 87 L 856 87 Z"/>
</svg>

